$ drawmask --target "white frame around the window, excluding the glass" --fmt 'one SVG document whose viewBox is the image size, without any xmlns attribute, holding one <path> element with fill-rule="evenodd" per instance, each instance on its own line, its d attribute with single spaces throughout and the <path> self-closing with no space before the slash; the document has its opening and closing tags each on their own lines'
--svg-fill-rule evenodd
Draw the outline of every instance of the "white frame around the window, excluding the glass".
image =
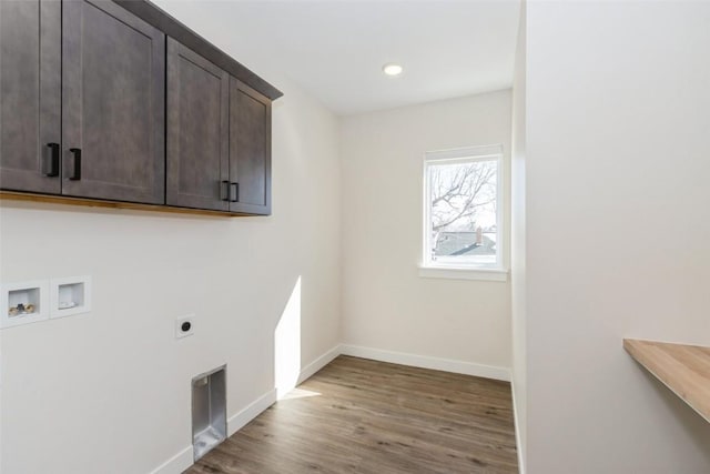
<svg viewBox="0 0 710 474">
<path fill-rule="evenodd" d="M 432 260 L 432 190 L 429 186 L 429 167 L 442 163 L 470 163 L 476 161 L 496 161 L 496 263 L 453 263 L 437 262 Z M 505 219 L 505 159 L 501 144 L 484 147 L 466 147 L 452 150 L 430 151 L 424 154 L 424 213 L 423 213 L 423 241 L 422 241 L 422 263 L 419 265 L 419 276 L 444 278 L 455 280 L 493 280 L 507 281 L 508 269 L 506 268 L 506 230 Z"/>
</svg>

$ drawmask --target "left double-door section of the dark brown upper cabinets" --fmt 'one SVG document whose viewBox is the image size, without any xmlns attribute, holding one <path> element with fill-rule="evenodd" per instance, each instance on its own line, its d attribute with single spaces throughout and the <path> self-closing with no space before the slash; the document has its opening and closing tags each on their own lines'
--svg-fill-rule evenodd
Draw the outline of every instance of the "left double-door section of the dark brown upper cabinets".
<svg viewBox="0 0 710 474">
<path fill-rule="evenodd" d="M 0 9 L 0 188 L 164 203 L 165 36 L 110 1 Z"/>
</svg>

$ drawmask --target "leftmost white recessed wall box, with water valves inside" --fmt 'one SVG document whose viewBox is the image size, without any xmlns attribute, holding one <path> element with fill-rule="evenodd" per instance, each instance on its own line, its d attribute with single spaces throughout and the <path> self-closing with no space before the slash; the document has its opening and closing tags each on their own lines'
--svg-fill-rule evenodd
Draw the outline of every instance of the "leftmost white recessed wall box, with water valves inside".
<svg viewBox="0 0 710 474">
<path fill-rule="evenodd" d="M 0 327 L 49 317 L 49 284 L 45 280 L 3 284 L 0 299 Z"/>
</svg>

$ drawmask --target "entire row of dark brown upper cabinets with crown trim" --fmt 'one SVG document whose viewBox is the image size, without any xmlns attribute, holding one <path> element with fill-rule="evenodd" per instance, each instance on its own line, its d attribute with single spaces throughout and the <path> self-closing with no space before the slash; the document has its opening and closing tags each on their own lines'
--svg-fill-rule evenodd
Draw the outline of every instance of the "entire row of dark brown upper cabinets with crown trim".
<svg viewBox="0 0 710 474">
<path fill-rule="evenodd" d="M 0 0 L 1 196 L 270 214 L 281 95 L 149 1 Z"/>
</svg>

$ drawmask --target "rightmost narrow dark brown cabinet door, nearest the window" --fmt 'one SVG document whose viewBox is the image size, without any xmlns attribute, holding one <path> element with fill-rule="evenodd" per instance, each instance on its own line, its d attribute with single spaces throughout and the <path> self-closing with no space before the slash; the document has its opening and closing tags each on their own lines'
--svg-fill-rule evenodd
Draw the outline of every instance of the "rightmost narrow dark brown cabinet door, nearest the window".
<svg viewBox="0 0 710 474">
<path fill-rule="evenodd" d="M 271 214 L 271 101 L 231 78 L 230 211 Z"/>
</svg>

